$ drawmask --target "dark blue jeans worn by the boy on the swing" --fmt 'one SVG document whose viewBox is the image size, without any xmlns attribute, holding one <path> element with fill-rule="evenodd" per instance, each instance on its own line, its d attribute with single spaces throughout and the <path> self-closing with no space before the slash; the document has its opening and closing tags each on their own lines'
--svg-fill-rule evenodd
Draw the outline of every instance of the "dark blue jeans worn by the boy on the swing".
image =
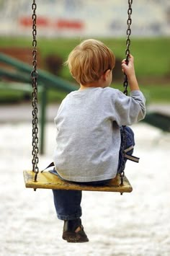
<svg viewBox="0 0 170 256">
<path fill-rule="evenodd" d="M 130 146 L 135 145 L 134 141 L 134 133 L 131 128 L 128 126 L 125 127 L 126 132 L 126 144 L 125 149 L 128 149 Z M 121 133 L 121 145 L 120 145 L 120 156 L 119 156 L 119 164 L 117 173 L 119 173 L 122 169 L 123 164 L 123 156 L 122 156 L 122 128 L 120 128 Z M 128 151 L 129 155 L 133 154 L 133 149 Z M 126 162 L 127 159 L 125 159 Z M 54 171 L 56 175 L 58 173 Z M 58 175 L 59 176 L 59 175 Z M 59 176 L 60 177 L 60 176 Z M 86 185 L 104 185 L 109 180 L 100 180 L 97 182 L 86 182 Z M 57 213 L 58 219 L 61 220 L 73 220 L 79 219 L 81 217 L 81 190 L 53 190 L 53 198 L 55 211 Z"/>
</svg>

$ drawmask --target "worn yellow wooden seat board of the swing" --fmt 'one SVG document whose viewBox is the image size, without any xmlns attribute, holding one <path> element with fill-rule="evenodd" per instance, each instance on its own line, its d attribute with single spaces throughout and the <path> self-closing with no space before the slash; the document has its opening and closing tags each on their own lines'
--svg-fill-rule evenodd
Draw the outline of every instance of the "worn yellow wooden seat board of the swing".
<svg viewBox="0 0 170 256">
<path fill-rule="evenodd" d="M 120 185 L 120 175 L 108 182 L 107 185 L 83 185 L 76 182 L 66 182 L 61 180 L 58 176 L 50 172 L 39 172 L 37 181 L 34 181 L 35 173 L 32 171 L 24 171 L 25 187 L 30 188 L 45 188 L 53 190 L 89 190 L 89 191 L 106 191 L 130 193 L 133 187 L 130 185 L 127 177 L 123 179 L 123 185 Z"/>
</svg>

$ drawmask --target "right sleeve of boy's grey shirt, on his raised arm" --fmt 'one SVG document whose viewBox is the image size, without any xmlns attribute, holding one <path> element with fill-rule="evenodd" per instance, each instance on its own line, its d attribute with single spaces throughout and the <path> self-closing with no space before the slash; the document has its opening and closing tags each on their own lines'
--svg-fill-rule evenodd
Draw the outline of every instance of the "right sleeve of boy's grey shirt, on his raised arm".
<svg viewBox="0 0 170 256">
<path fill-rule="evenodd" d="M 132 125 L 145 118 L 146 99 L 143 93 L 134 90 L 126 96 L 117 90 L 115 98 L 115 121 L 118 125 Z"/>
</svg>

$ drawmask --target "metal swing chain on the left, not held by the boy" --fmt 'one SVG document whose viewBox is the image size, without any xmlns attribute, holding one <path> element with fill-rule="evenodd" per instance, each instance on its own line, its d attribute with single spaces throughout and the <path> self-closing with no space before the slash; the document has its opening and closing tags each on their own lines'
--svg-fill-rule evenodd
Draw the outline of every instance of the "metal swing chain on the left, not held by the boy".
<svg viewBox="0 0 170 256">
<path fill-rule="evenodd" d="M 37 15 L 36 15 L 36 9 L 37 5 L 35 3 L 35 0 L 33 0 L 32 3 L 32 72 L 31 72 L 31 78 L 32 78 L 32 171 L 35 172 L 35 182 L 37 181 L 37 174 L 39 172 L 39 169 L 37 167 L 37 163 L 39 162 L 38 159 L 38 118 L 37 118 L 37 27 L 36 27 L 36 21 L 37 21 Z"/>
</svg>

